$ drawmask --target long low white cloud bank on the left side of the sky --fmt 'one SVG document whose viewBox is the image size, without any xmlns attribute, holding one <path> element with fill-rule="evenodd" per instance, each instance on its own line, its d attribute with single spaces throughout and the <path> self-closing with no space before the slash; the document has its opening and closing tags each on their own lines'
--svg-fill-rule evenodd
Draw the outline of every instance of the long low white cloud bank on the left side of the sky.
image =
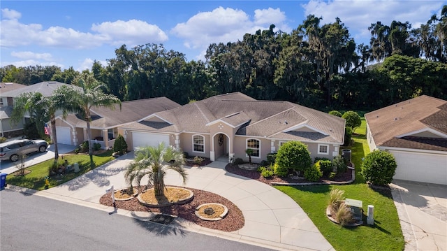
<svg viewBox="0 0 447 251">
<path fill-rule="evenodd" d="M 10 19 L 0 21 L 1 47 L 20 45 L 42 45 L 59 48 L 85 49 L 99 47 L 103 44 L 138 45 L 140 43 L 159 43 L 168 36 L 159 27 L 140 20 L 103 22 L 92 24 L 91 32 L 77 31 L 72 28 L 53 26 L 43 29 L 41 24 L 23 24 L 19 22 L 20 13 L 15 10 L 2 9 Z"/>
</svg>

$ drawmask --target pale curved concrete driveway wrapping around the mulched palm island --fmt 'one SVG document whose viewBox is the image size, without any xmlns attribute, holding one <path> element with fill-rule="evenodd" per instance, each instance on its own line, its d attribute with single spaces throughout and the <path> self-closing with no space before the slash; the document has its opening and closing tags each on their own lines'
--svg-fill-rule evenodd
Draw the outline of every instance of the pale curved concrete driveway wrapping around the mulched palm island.
<svg viewBox="0 0 447 251">
<path fill-rule="evenodd" d="M 133 152 L 58 187 L 35 194 L 111 212 L 113 208 L 101 205 L 99 199 L 110 185 L 114 185 L 115 189 L 128 187 L 124 182 L 124 170 L 132 159 Z M 276 250 L 334 250 L 293 199 L 270 185 L 228 173 L 225 166 L 224 162 L 212 162 L 206 167 L 187 167 L 189 180 L 185 185 L 178 173 L 168 173 L 166 185 L 203 189 L 225 197 L 242 210 L 244 227 L 228 233 L 181 219 L 175 224 L 171 223 L 171 227 Z M 117 209 L 116 213 L 141 220 L 147 220 L 150 216 L 150 213 L 121 209 Z"/>
</svg>

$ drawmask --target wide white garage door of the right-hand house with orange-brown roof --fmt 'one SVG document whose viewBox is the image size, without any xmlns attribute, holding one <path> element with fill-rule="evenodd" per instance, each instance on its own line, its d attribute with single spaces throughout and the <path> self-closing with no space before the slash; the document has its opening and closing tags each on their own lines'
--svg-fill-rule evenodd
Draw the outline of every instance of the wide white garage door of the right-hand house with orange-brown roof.
<svg viewBox="0 0 447 251">
<path fill-rule="evenodd" d="M 447 185 L 447 155 L 390 152 L 397 162 L 393 178 Z"/>
</svg>

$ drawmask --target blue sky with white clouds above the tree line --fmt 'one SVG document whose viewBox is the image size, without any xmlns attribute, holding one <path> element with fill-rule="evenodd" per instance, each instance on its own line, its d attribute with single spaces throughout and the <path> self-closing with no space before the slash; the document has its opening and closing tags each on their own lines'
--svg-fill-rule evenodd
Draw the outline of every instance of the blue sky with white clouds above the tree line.
<svg viewBox="0 0 447 251">
<path fill-rule="evenodd" d="M 258 29 L 287 33 L 307 15 L 321 24 L 339 17 L 357 44 L 369 44 L 377 21 L 413 28 L 439 15 L 447 1 L 0 1 L 0 66 L 49 66 L 82 71 L 107 65 L 125 44 L 163 44 L 187 60 L 204 60 L 211 43 L 241 41 Z"/>
</svg>

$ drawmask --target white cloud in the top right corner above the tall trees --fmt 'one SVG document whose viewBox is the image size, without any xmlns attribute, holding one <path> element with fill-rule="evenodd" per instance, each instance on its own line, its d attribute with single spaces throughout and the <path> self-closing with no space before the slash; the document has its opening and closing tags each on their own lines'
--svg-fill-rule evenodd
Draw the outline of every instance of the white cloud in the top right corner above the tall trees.
<svg viewBox="0 0 447 251">
<path fill-rule="evenodd" d="M 390 25 L 393 20 L 412 24 L 413 28 L 425 24 L 430 16 L 439 10 L 445 1 L 401 1 L 401 0 L 311 0 L 302 7 L 305 15 L 323 17 L 321 24 L 335 22 L 339 17 L 351 34 L 357 34 L 358 39 L 368 39 L 371 34 L 368 27 L 381 21 Z"/>
</svg>

